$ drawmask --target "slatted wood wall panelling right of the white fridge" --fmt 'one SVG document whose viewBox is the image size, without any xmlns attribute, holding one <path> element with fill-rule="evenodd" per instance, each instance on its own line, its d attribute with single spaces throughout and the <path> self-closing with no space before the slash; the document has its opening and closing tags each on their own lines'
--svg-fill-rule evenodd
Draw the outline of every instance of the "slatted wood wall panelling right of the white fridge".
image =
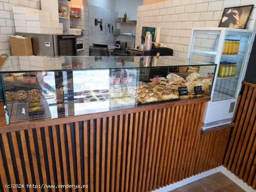
<svg viewBox="0 0 256 192">
<path fill-rule="evenodd" d="M 256 189 L 256 85 L 243 85 L 223 165 Z"/>
</svg>

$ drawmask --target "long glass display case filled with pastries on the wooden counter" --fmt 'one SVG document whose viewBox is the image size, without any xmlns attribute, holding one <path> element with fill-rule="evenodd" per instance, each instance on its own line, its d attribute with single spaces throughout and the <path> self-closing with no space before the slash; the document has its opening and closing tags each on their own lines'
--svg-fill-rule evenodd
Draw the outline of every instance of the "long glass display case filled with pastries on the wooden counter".
<svg viewBox="0 0 256 192">
<path fill-rule="evenodd" d="M 206 97 L 215 71 L 175 57 L 23 56 L 7 58 L 0 75 L 7 124 L 15 124 Z"/>
</svg>

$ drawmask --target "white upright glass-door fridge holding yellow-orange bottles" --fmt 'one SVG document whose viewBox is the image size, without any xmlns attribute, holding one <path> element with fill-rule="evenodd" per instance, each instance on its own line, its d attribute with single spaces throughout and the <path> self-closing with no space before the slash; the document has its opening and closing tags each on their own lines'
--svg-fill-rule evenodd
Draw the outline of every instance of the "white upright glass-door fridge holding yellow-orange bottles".
<svg viewBox="0 0 256 192">
<path fill-rule="evenodd" d="M 188 59 L 217 64 L 202 129 L 232 122 L 254 32 L 232 28 L 193 28 Z M 208 73 L 200 67 L 199 73 Z"/>
</svg>

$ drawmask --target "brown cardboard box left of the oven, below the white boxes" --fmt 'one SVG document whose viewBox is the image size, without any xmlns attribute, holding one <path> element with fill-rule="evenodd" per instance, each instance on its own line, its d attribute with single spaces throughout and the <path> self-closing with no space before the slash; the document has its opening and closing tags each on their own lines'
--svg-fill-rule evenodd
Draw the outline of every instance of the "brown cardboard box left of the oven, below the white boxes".
<svg viewBox="0 0 256 192">
<path fill-rule="evenodd" d="M 24 39 L 10 37 L 10 44 L 13 56 L 29 56 L 33 55 L 31 38 Z"/>
</svg>

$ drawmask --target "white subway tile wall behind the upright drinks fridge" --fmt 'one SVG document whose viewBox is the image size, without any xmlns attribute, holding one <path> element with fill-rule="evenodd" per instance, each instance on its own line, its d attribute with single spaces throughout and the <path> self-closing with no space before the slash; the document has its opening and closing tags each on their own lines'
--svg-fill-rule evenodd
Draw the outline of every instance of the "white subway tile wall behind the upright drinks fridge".
<svg viewBox="0 0 256 192">
<path fill-rule="evenodd" d="M 161 43 L 187 57 L 192 27 L 218 27 L 224 8 L 254 4 L 247 29 L 256 29 L 256 0 L 167 0 L 138 8 L 136 42 L 141 44 L 142 26 L 161 26 Z M 167 8 L 167 11 L 163 10 Z M 210 46 L 213 42 L 209 41 Z M 201 46 L 201 42 L 199 42 Z M 207 49 L 207 47 L 205 48 Z M 209 48 L 208 48 L 209 49 Z M 195 56 L 195 55 L 194 55 Z M 198 56 L 196 55 L 196 59 Z M 199 58 L 210 60 L 209 58 Z"/>
</svg>

